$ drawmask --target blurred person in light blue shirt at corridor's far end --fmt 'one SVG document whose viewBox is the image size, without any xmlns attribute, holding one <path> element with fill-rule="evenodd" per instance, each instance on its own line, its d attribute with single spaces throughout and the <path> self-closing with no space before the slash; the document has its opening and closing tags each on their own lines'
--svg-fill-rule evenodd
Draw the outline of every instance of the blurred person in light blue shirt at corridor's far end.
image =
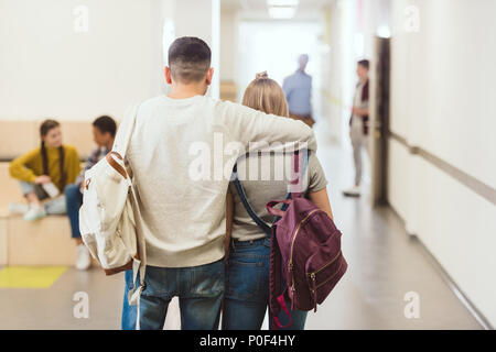
<svg viewBox="0 0 496 352">
<path fill-rule="evenodd" d="M 284 78 L 282 90 L 288 100 L 291 119 L 301 120 L 313 127 L 315 120 L 312 118 L 312 106 L 310 97 L 312 92 L 312 76 L 305 73 L 309 55 L 303 54 L 298 58 L 299 68 L 291 76 Z"/>
</svg>

